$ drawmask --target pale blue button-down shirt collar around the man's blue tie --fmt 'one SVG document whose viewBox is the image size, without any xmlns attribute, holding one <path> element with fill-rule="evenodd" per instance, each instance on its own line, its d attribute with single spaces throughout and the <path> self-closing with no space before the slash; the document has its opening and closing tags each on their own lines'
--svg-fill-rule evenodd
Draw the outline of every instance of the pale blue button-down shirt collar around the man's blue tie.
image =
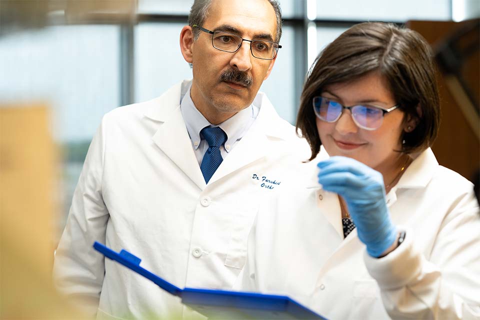
<svg viewBox="0 0 480 320">
<path fill-rule="evenodd" d="M 201 114 L 195 107 L 190 96 L 191 83 L 180 103 L 180 110 L 186 124 L 186 129 L 190 135 L 193 148 L 196 150 L 200 145 L 200 131 L 205 126 L 219 126 L 227 136 L 225 145 L 232 145 L 242 138 L 248 128 L 249 119 L 256 118 L 259 108 L 250 104 L 248 107 L 240 110 L 232 117 L 226 119 L 218 125 L 213 125 Z M 227 152 L 229 148 L 225 149 Z"/>
</svg>

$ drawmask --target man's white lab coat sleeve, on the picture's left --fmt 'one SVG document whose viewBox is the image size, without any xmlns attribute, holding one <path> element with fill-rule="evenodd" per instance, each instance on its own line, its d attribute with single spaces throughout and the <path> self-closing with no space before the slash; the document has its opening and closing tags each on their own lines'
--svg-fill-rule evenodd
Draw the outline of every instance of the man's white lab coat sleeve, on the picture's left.
<svg viewBox="0 0 480 320">
<path fill-rule="evenodd" d="M 90 143 L 53 263 L 57 290 L 86 314 L 95 316 L 104 275 L 104 258 L 93 242 L 105 243 L 108 210 L 102 198 L 104 123 Z"/>
</svg>

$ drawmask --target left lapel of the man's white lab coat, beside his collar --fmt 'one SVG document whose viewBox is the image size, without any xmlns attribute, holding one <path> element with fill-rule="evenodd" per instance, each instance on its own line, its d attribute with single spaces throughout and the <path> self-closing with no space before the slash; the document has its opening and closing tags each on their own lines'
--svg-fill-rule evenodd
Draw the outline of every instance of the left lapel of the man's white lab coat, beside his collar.
<svg viewBox="0 0 480 320">
<path fill-rule="evenodd" d="M 201 190 L 206 186 L 200 171 L 185 122 L 181 115 L 180 105 L 164 105 L 163 123 L 152 139 L 155 144 L 168 156 Z"/>
</svg>

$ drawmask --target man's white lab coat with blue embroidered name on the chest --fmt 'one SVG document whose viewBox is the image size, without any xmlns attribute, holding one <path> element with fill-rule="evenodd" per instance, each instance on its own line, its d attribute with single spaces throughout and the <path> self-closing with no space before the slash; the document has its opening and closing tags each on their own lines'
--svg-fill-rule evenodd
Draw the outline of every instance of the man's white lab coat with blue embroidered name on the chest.
<svg viewBox="0 0 480 320">
<path fill-rule="evenodd" d="M 93 241 L 130 251 L 178 287 L 231 288 L 259 201 L 288 185 L 289 167 L 308 158 L 306 142 L 258 93 L 257 118 L 205 185 L 180 112 L 188 84 L 107 113 L 90 144 L 53 275 L 61 292 L 81 298 L 98 318 L 185 318 L 192 311 L 105 260 Z"/>
</svg>

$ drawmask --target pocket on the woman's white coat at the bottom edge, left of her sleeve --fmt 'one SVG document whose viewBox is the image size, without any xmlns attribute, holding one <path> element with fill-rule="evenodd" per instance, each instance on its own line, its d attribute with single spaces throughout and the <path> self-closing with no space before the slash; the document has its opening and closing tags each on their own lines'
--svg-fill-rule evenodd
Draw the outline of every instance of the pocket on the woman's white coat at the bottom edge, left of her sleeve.
<svg viewBox="0 0 480 320">
<path fill-rule="evenodd" d="M 380 310 L 378 310 L 380 308 Z M 350 311 L 351 319 L 368 319 L 373 314 L 385 313 L 380 298 L 380 289 L 376 281 L 371 279 L 355 281 L 353 284 L 353 299 Z"/>
</svg>

